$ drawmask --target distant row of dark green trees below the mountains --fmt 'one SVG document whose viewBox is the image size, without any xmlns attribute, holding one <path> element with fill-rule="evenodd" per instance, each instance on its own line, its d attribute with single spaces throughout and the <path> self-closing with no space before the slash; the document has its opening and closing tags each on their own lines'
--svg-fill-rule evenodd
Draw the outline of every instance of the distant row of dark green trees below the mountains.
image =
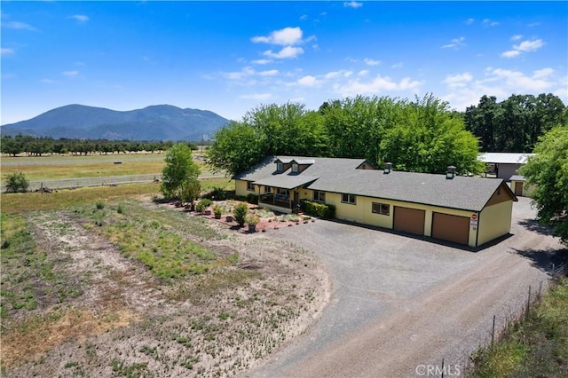
<svg viewBox="0 0 568 378">
<path fill-rule="evenodd" d="M 193 142 L 185 143 L 192 150 L 197 150 Z M 71 139 L 50 137 L 32 137 L 28 135 L 2 136 L 0 151 L 2 154 L 16 156 L 18 154 L 119 154 L 162 152 L 174 146 L 173 141 L 139 141 L 139 140 L 107 140 L 107 139 Z"/>
</svg>

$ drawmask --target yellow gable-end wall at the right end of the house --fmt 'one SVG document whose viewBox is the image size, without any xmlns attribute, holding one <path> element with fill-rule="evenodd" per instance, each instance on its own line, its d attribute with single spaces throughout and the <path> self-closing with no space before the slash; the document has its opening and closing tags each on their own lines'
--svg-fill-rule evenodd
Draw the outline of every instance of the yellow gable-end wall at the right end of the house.
<svg viewBox="0 0 568 378">
<path fill-rule="evenodd" d="M 511 211 L 513 201 L 487 206 L 479 215 L 479 235 L 477 245 L 505 235 L 511 230 Z"/>
</svg>

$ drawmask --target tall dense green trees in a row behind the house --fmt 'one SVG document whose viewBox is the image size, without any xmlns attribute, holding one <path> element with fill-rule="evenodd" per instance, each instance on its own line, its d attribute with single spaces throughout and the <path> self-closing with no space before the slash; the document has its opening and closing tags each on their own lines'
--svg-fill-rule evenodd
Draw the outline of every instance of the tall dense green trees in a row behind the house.
<svg viewBox="0 0 568 378">
<path fill-rule="evenodd" d="M 511 96 L 501 104 L 484 96 L 465 113 L 431 94 L 336 99 L 317 111 L 271 104 L 218 130 L 208 157 L 229 174 L 278 154 L 365 158 L 377 167 L 389 161 L 394 169 L 427 173 L 454 165 L 461 174 L 475 174 L 485 168 L 477 161 L 480 148 L 532 151 L 540 135 L 566 118 L 563 102 L 551 94 Z"/>
</svg>

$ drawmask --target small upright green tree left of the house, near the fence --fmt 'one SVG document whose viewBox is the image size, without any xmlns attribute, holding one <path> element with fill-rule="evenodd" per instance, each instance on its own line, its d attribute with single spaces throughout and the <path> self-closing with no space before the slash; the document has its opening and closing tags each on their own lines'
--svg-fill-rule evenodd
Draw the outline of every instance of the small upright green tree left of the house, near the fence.
<svg viewBox="0 0 568 378">
<path fill-rule="evenodd" d="M 181 192 L 197 180 L 200 169 L 193 161 L 191 149 L 184 143 L 172 146 L 165 157 L 160 190 L 166 198 L 179 198 Z"/>
</svg>

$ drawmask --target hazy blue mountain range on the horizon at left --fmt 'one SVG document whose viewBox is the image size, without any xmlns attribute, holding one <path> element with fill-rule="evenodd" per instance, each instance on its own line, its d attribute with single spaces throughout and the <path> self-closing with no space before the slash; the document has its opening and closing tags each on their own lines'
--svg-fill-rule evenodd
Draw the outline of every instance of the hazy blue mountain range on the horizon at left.
<svg viewBox="0 0 568 378">
<path fill-rule="evenodd" d="M 116 111 L 104 107 L 67 105 L 21 122 L 5 124 L 2 135 L 51 138 L 192 140 L 212 138 L 229 120 L 210 112 L 170 105 Z"/>
</svg>

